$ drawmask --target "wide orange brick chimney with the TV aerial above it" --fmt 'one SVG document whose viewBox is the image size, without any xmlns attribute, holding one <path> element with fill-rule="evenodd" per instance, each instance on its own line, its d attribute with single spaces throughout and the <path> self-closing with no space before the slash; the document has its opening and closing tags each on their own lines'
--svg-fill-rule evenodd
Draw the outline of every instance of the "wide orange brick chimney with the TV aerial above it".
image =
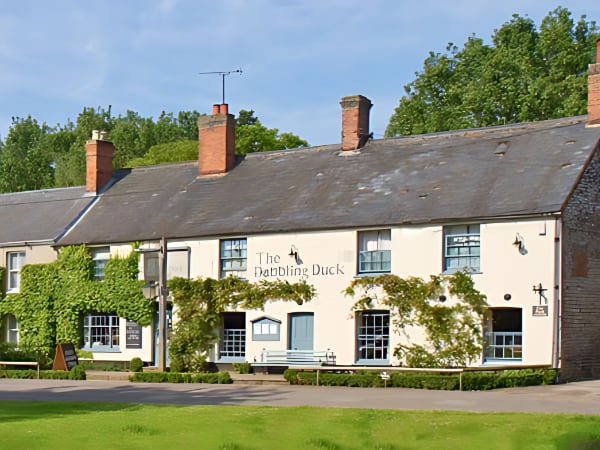
<svg viewBox="0 0 600 450">
<path fill-rule="evenodd" d="M 213 105 L 210 116 L 198 118 L 198 175 L 230 171 L 235 164 L 235 119 L 228 105 Z"/>
</svg>

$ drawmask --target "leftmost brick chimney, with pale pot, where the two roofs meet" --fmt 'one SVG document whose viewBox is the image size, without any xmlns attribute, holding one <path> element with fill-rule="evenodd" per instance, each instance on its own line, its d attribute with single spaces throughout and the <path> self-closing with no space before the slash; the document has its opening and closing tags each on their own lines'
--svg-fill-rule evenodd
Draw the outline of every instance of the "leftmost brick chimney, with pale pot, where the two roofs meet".
<svg viewBox="0 0 600 450">
<path fill-rule="evenodd" d="M 108 140 L 108 133 L 92 131 L 92 139 L 85 143 L 85 190 L 98 193 L 110 181 L 113 174 L 112 158 L 115 146 Z"/>
</svg>

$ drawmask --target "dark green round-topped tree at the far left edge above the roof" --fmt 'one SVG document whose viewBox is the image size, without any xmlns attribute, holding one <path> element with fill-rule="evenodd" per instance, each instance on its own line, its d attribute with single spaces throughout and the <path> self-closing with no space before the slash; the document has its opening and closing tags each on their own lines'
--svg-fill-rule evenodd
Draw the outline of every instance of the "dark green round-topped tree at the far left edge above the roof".
<svg viewBox="0 0 600 450">
<path fill-rule="evenodd" d="M 46 149 L 50 132 L 46 124 L 28 116 L 12 119 L 6 143 L 0 151 L 0 192 L 52 187 L 53 155 Z"/>
</svg>

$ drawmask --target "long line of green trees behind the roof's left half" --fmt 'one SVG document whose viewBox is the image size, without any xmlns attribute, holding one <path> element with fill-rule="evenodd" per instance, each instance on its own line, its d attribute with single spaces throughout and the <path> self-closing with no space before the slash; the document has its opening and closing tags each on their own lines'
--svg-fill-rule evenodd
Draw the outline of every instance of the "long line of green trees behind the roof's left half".
<svg viewBox="0 0 600 450">
<path fill-rule="evenodd" d="M 85 107 L 75 122 L 55 127 L 13 118 L 6 142 L 0 141 L 0 192 L 84 185 L 85 143 L 93 130 L 108 132 L 115 169 L 197 160 L 199 116 L 163 111 L 153 119 L 128 110 L 115 117 L 109 105 Z M 292 133 L 266 128 L 252 110 L 241 110 L 237 124 L 238 154 L 308 146 Z"/>
</svg>

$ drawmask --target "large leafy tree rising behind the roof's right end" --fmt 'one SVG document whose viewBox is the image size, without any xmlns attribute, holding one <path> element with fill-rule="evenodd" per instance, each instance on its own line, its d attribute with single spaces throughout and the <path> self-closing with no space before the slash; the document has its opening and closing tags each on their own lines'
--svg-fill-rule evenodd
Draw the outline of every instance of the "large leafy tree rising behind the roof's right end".
<svg viewBox="0 0 600 450">
<path fill-rule="evenodd" d="M 430 52 L 404 87 L 386 136 L 529 122 L 586 112 L 587 67 L 594 61 L 595 22 L 576 23 L 562 7 L 539 30 L 514 14 L 492 45 L 472 35 L 462 49 Z"/>
</svg>

